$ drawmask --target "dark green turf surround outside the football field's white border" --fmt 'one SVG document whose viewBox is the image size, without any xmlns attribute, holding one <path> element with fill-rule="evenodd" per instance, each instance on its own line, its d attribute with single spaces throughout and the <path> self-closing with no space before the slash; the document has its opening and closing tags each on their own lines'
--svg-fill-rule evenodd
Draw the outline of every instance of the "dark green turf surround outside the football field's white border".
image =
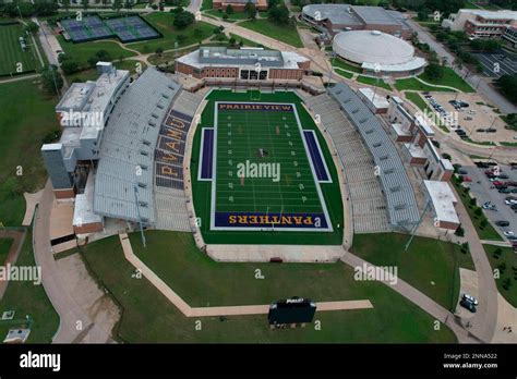
<svg viewBox="0 0 517 379">
<path fill-rule="evenodd" d="M 214 101 L 215 100 L 228 100 L 228 101 L 252 101 L 250 93 L 231 93 L 225 90 L 213 90 L 208 96 L 211 100 L 202 114 L 203 125 L 214 125 Z M 322 147 L 325 161 L 327 163 L 333 183 L 321 183 L 320 187 L 325 198 L 329 218 L 334 225 L 334 232 L 298 232 L 298 231 L 275 231 L 269 233 L 262 233 L 260 231 L 212 231 L 209 229 L 211 220 L 211 194 L 212 194 L 212 182 L 209 181 L 197 181 L 192 182 L 194 208 L 196 217 L 202 220 L 201 231 L 206 243 L 239 243 L 239 244 L 311 244 L 311 245 L 335 245 L 342 242 L 342 200 L 339 191 L 339 181 L 336 172 L 336 168 L 333 164 L 332 156 L 326 148 L 326 143 L 323 136 L 317 131 L 314 121 L 311 115 L 303 109 L 300 102 L 300 98 L 292 91 L 278 91 L 275 94 L 262 94 L 262 102 L 288 102 L 296 103 L 300 122 L 304 130 L 314 130 L 316 132 L 320 146 Z M 191 160 L 191 172 L 194 173 L 194 178 L 197 178 L 197 170 L 200 167 L 200 145 L 202 137 L 202 127 L 199 127 L 193 142 L 192 148 L 192 160 Z M 237 145 L 236 145 L 237 148 Z M 300 160 L 301 162 L 301 160 Z M 301 163 L 300 163 L 301 164 Z M 284 169 L 282 169 L 284 170 Z M 284 176 L 284 175 L 282 175 Z M 294 180 L 292 179 L 294 183 Z M 276 184 L 275 184 L 276 185 Z M 339 224 L 339 228 L 336 225 Z"/>
</svg>

